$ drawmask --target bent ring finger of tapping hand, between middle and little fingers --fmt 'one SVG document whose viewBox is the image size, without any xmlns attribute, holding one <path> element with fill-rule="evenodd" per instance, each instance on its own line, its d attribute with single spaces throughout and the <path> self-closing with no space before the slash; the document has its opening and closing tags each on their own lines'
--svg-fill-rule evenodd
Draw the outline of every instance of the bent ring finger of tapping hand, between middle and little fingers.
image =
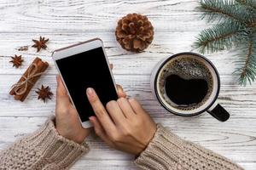
<svg viewBox="0 0 256 170">
<path fill-rule="evenodd" d="M 135 116 L 135 112 L 132 110 L 131 105 L 128 101 L 128 99 L 125 98 L 119 98 L 117 100 L 117 103 L 119 104 L 119 107 L 123 111 L 124 115 L 128 119 L 132 119 Z"/>
</svg>

